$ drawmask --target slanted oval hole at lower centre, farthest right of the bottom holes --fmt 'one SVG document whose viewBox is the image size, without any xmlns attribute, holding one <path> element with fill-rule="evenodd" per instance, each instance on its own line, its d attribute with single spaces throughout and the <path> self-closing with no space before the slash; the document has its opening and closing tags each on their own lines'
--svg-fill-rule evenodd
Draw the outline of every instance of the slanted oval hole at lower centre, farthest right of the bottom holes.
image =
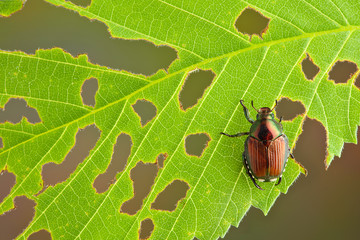
<svg viewBox="0 0 360 240">
<path fill-rule="evenodd" d="M 151 204 L 152 209 L 174 211 L 178 202 L 186 196 L 189 185 L 182 180 L 174 180 L 157 195 L 155 201 Z"/>
</svg>

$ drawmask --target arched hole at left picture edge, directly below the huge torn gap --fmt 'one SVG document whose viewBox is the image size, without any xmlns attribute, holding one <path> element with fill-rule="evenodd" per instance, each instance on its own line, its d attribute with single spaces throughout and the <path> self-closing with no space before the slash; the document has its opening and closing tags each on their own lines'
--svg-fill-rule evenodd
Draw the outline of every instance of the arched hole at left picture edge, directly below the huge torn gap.
<svg viewBox="0 0 360 240">
<path fill-rule="evenodd" d="M 23 118 L 36 124 L 41 122 L 37 110 L 30 107 L 23 98 L 10 98 L 4 108 L 0 108 L 0 123 L 19 123 Z"/>
</svg>

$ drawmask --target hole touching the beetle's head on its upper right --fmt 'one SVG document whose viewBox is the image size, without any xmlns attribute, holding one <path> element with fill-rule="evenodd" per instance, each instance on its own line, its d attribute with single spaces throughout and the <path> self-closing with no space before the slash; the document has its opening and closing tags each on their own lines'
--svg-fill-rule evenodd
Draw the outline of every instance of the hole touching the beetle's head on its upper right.
<svg viewBox="0 0 360 240">
<path fill-rule="evenodd" d="M 289 98 L 281 98 L 275 108 L 276 116 L 284 120 L 292 120 L 305 113 L 305 107 L 300 101 L 292 101 Z"/>
</svg>

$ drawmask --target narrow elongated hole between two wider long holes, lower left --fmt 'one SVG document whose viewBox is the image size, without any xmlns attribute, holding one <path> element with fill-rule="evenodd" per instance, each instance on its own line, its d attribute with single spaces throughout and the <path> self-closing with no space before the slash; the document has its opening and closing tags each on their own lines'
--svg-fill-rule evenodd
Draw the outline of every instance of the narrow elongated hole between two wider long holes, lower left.
<svg viewBox="0 0 360 240">
<path fill-rule="evenodd" d="M 93 187 L 97 193 L 106 192 L 111 184 L 116 181 L 116 174 L 122 172 L 131 154 L 131 147 L 133 143 L 131 137 L 126 133 L 121 133 L 114 144 L 113 155 L 111 162 L 106 169 L 106 172 L 98 175 L 93 183 Z"/>
</svg>

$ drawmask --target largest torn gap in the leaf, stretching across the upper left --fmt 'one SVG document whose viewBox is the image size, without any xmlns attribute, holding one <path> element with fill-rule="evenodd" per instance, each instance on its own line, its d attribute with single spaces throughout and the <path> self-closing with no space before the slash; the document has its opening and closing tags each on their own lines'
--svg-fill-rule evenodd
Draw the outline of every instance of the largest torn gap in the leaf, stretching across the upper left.
<svg viewBox="0 0 360 240">
<path fill-rule="evenodd" d="M 7 39 L 1 44 L 4 50 L 33 54 L 38 49 L 59 47 L 72 56 L 87 54 L 94 64 L 145 76 L 167 71 L 178 59 L 177 50 L 167 44 L 115 37 L 96 18 L 81 17 L 43 0 L 27 1 L 20 12 L 1 20 L 1 35 Z"/>
</svg>

